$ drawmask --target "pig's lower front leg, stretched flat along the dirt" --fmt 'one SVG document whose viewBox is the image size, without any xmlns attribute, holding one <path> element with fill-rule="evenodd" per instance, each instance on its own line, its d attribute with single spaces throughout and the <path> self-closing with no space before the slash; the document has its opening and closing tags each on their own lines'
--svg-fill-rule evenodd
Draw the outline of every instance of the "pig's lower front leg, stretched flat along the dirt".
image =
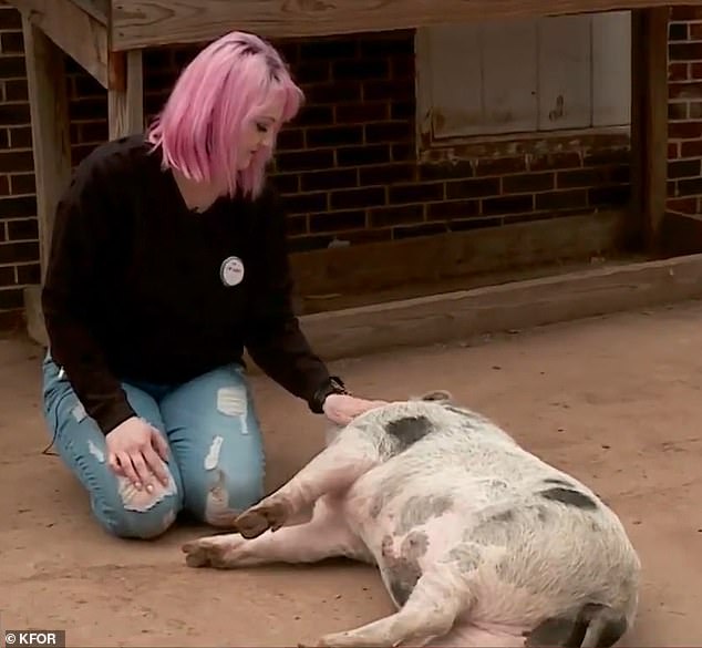
<svg viewBox="0 0 702 648">
<path fill-rule="evenodd" d="M 365 545 L 348 527 L 341 506 L 322 497 L 310 522 L 246 539 L 238 534 L 211 535 L 183 545 L 190 567 L 234 569 L 267 563 L 316 563 L 344 556 L 372 560 Z"/>
</svg>

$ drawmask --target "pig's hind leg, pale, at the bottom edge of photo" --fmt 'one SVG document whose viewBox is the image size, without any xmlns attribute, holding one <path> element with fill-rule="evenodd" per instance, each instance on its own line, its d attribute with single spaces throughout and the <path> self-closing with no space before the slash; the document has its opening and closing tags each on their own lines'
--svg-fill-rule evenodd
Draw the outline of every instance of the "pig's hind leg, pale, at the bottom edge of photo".
<svg viewBox="0 0 702 648">
<path fill-rule="evenodd" d="M 395 614 L 353 630 L 323 636 L 318 646 L 394 647 L 405 641 L 430 641 L 446 635 L 472 604 L 457 575 L 450 568 L 426 572 L 404 606 Z"/>
</svg>

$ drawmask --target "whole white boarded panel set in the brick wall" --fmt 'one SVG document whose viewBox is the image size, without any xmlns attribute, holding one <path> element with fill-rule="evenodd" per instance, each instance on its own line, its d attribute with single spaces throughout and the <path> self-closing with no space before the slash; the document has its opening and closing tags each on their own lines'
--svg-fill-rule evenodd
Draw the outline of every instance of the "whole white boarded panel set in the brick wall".
<svg viewBox="0 0 702 648">
<path fill-rule="evenodd" d="M 630 12 L 417 31 L 417 120 L 433 138 L 630 123 Z"/>
</svg>

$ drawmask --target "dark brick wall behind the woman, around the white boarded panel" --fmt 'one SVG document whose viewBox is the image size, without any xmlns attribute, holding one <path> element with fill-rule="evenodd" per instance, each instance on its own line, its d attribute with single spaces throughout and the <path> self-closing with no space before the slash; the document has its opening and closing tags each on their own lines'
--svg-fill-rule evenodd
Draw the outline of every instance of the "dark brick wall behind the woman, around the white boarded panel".
<svg viewBox="0 0 702 648">
<path fill-rule="evenodd" d="M 280 135 L 275 171 L 293 250 L 326 247 L 335 237 L 360 244 L 499 226 L 629 198 L 629 146 L 621 137 L 482 145 L 466 148 L 456 164 L 417 164 L 411 32 L 277 44 L 308 97 Z M 0 328 L 17 321 L 21 289 L 39 277 L 21 49 L 19 17 L 0 4 Z M 145 52 L 147 115 L 196 51 Z M 107 136 L 107 102 L 71 61 L 69 71 L 78 163 Z"/>
</svg>

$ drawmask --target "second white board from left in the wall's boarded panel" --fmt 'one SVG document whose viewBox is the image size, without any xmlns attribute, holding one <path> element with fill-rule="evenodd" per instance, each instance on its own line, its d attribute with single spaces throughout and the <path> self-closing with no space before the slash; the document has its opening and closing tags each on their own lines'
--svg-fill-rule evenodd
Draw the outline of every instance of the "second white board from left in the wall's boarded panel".
<svg viewBox="0 0 702 648">
<path fill-rule="evenodd" d="M 537 21 L 483 24 L 481 49 L 485 110 L 479 132 L 534 131 L 538 125 Z"/>
</svg>

